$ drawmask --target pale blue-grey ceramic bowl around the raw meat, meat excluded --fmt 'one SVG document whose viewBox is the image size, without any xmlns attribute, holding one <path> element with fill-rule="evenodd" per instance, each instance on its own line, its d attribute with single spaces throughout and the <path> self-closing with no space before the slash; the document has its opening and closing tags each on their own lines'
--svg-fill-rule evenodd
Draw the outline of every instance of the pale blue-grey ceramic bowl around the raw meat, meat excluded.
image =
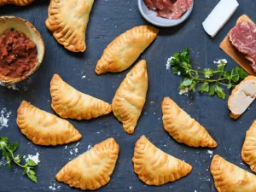
<svg viewBox="0 0 256 192">
<path fill-rule="evenodd" d="M 138 0 L 137 2 L 138 2 L 139 10 L 143 15 L 143 17 L 145 18 L 145 20 L 148 20 L 148 22 L 154 24 L 155 26 L 164 26 L 164 27 L 177 26 L 181 24 L 183 21 L 188 19 L 194 7 L 194 1 L 193 1 L 191 8 L 182 16 L 181 19 L 171 20 L 171 19 L 166 19 L 166 18 L 156 16 L 155 11 L 148 9 L 148 7 L 146 6 L 143 0 Z"/>
</svg>

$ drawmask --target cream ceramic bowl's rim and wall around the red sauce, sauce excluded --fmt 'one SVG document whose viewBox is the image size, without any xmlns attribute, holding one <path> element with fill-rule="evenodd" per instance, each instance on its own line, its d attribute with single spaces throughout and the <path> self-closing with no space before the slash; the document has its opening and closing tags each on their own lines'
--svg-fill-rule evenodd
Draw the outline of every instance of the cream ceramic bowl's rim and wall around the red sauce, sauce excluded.
<svg viewBox="0 0 256 192">
<path fill-rule="evenodd" d="M 34 73 L 41 65 L 44 58 L 44 40 L 43 38 L 41 38 L 41 35 L 35 28 L 35 26 L 33 26 L 29 21 L 15 16 L 0 17 L 0 36 L 3 34 L 3 32 L 11 28 L 15 28 L 15 30 L 17 30 L 18 32 L 25 33 L 28 38 L 32 39 L 32 41 L 36 44 L 38 49 L 38 61 L 35 67 L 33 67 L 32 70 L 29 73 L 26 73 L 26 75 L 24 75 L 23 77 L 13 78 L 0 74 L 0 82 L 15 84 L 30 77 L 32 73 Z"/>
</svg>

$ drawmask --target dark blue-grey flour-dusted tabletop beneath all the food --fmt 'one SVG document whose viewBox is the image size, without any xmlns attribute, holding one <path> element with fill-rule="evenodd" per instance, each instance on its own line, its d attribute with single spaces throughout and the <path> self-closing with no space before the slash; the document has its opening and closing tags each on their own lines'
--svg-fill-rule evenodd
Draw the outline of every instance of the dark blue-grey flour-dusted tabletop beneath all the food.
<svg viewBox="0 0 256 192">
<path fill-rule="evenodd" d="M 245 132 L 255 118 L 255 113 L 253 113 L 256 107 L 255 103 L 247 113 L 234 121 L 229 117 L 227 101 L 199 94 L 189 97 L 179 96 L 177 85 L 181 79 L 170 71 L 166 71 L 166 59 L 184 47 L 191 49 L 194 67 L 215 67 L 212 61 L 222 58 L 228 59 L 229 67 L 236 67 L 235 61 L 225 55 L 218 48 L 218 44 L 235 25 L 240 15 L 247 14 L 256 21 L 256 2 L 240 0 L 239 9 L 224 26 L 224 29 L 215 38 L 210 38 L 204 32 L 201 23 L 217 3 L 217 0 L 196 0 L 195 9 L 189 20 L 180 26 L 160 28 L 159 37 L 141 56 L 148 61 L 149 89 L 143 114 L 132 136 L 123 131 L 122 125 L 112 114 L 90 121 L 70 120 L 83 135 L 82 140 L 79 141 L 78 154 L 84 153 L 88 147 L 100 143 L 108 137 L 114 137 L 119 143 L 119 160 L 112 179 L 107 186 L 98 191 L 216 191 L 208 171 L 212 160 L 211 155 L 207 152 L 209 148 L 189 148 L 175 142 L 164 131 L 160 120 L 160 103 L 164 96 L 171 96 L 181 108 L 184 108 L 207 128 L 218 142 L 218 148 L 210 149 L 213 154 L 220 154 L 230 162 L 249 171 L 248 166 L 241 162 L 240 154 Z M 65 146 L 46 148 L 33 145 L 20 134 L 15 123 L 16 109 L 22 100 L 26 100 L 38 108 L 54 113 L 50 108 L 49 95 L 49 81 L 54 73 L 59 73 L 68 84 L 73 85 L 76 89 L 111 102 L 115 90 L 128 71 L 97 76 L 94 72 L 96 61 L 102 55 L 103 49 L 121 32 L 125 32 L 133 26 L 148 24 L 139 13 L 136 0 L 96 0 L 86 34 L 87 50 L 85 53 L 75 54 L 57 44 L 55 38 L 44 26 L 48 5 L 49 1 L 38 0 L 26 8 L 15 6 L 0 8 L 0 15 L 15 15 L 30 20 L 41 32 L 46 48 L 42 66 L 31 79 L 19 84 L 19 91 L 0 87 L 0 109 L 7 108 L 7 111 L 12 112 L 9 118 L 9 127 L 3 127 L 0 136 L 9 137 L 11 142 L 18 141 L 20 143 L 18 153 L 36 154 L 39 152 L 41 163 L 36 169 L 38 183 L 32 183 L 26 177 L 22 177 L 20 168 L 15 167 L 15 171 L 9 171 L 7 167 L 2 167 L 0 170 L 1 192 L 45 192 L 50 191 L 49 186 L 54 186 L 54 184 L 56 188 L 60 186 L 60 189 L 56 189 L 56 191 L 79 191 L 79 189 L 71 189 L 66 184 L 55 182 L 55 174 L 76 156 L 70 154 L 70 150 L 77 143 L 69 144 L 67 149 Z M 84 75 L 86 78 L 82 79 Z M 140 182 L 133 172 L 131 158 L 134 144 L 143 134 L 166 153 L 189 162 L 194 167 L 189 176 L 158 188 L 146 186 Z"/>
</svg>

